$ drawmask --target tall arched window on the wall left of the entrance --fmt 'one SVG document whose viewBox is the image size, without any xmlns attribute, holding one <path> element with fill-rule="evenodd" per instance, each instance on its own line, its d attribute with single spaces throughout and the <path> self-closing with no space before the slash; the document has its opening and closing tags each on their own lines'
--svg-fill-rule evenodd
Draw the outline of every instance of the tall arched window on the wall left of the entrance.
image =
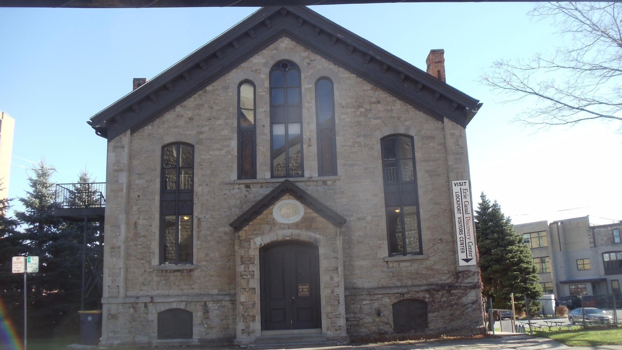
<svg viewBox="0 0 622 350">
<path fill-rule="evenodd" d="M 194 147 L 162 147 L 160 264 L 192 264 Z"/>
</svg>

